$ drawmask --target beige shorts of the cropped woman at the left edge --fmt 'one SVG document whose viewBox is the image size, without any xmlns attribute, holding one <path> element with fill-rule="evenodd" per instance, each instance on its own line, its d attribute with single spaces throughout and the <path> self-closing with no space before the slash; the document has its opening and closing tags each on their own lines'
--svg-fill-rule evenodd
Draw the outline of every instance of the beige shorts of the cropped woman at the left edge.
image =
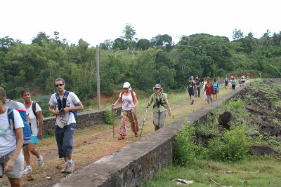
<svg viewBox="0 0 281 187">
<path fill-rule="evenodd" d="M 5 155 L 4 157 L 0 158 L 0 177 L 3 177 L 4 168 L 8 160 L 12 157 L 13 153 Z M 15 160 L 15 165 L 10 172 L 6 172 L 5 175 L 9 178 L 20 178 L 23 172 L 23 164 L 24 159 L 22 155 L 22 151 L 18 154 L 17 160 Z"/>
</svg>

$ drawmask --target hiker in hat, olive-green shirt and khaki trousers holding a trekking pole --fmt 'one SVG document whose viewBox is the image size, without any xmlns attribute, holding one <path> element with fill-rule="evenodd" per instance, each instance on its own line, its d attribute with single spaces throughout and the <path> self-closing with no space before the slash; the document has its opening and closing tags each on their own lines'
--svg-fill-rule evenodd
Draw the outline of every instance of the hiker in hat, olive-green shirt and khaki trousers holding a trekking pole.
<svg viewBox="0 0 281 187">
<path fill-rule="evenodd" d="M 153 93 L 150 97 L 150 102 L 148 102 L 148 106 L 153 104 L 153 124 L 155 125 L 155 130 L 159 130 L 159 128 L 164 127 L 164 119 L 166 117 L 166 109 L 168 109 L 169 116 L 171 116 L 171 109 L 169 106 L 169 102 L 167 99 L 166 93 L 163 92 L 163 88 L 161 85 L 156 84 L 153 87 L 155 93 Z"/>
</svg>

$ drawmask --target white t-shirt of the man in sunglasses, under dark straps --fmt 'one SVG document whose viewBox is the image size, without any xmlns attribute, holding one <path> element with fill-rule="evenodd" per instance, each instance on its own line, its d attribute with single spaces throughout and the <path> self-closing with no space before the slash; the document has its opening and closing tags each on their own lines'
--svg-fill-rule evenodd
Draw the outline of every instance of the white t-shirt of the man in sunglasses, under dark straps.
<svg viewBox="0 0 281 187">
<path fill-rule="evenodd" d="M 60 97 L 60 100 L 63 101 L 63 96 Z M 80 102 L 80 100 L 77 97 L 77 95 L 75 95 L 74 92 L 70 92 L 66 99 L 66 106 L 74 107 L 74 104 L 77 104 L 79 102 Z M 48 102 L 48 104 L 55 106 L 56 109 L 58 109 L 58 103 L 57 103 L 57 98 L 55 97 L 55 93 L 51 96 L 51 99 Z M 65 118 L 67 119 L 66 125 L 70 125 L 71 123 L 76 123 L 73 112 L 65 113 Z M 58 125 L 58 124 L 55 123 L 55 125 Z"/>
</svg>

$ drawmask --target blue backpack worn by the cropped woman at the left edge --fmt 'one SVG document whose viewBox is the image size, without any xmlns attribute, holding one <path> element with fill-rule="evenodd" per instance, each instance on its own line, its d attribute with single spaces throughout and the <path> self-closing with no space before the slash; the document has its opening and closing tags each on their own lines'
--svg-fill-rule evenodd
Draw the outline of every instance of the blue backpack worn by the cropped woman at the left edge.
<svg viewBox="0 0 281 187">
<path fill-rule="evenodd" d="M 10 124 L 10 127 L 15 130 L 15 122 L 14 122 L 14 116 L 13 116 L 13 111 L 15 109 L 8 107 L 8 122 Z M 31 143 L 31 129 L 30 125 L 27 123 L 27 116 L 26 116 L 26 111 L 22 110 L 17 110 L 20 113 L 20 117 L 22 117 L 22 122 L 23 122 L 23 143 L 24 144 L 30 144 Z"/>
</svg>

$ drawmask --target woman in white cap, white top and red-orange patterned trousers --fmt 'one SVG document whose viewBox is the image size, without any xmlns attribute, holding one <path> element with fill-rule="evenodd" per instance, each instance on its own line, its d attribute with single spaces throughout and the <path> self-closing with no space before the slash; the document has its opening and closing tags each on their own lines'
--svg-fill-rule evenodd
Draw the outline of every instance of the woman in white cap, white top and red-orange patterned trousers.
<svg viewBox="0 0 281 187">
<path fill-rule="evenodd" d="M 117 106 L 120 101 L 122 102 L 119 140 L 125 138 L 127 133 L 126 123 L 128 120 L 131 123 L 131 130 L 135 133 L 135 137 L 138 137 L 138 120 L 136 118 L 136 106 L 138 105 L 138 99 L 136 98 L 136 93 L 131 90 L 130 83 L 124 83 L 123 88 L 124 90 L 119 94 L 119 98 L 115 104 L 112 104 L 111 106 L 111 108 L 114 109 L 114 107 Z"/>
</svg>

